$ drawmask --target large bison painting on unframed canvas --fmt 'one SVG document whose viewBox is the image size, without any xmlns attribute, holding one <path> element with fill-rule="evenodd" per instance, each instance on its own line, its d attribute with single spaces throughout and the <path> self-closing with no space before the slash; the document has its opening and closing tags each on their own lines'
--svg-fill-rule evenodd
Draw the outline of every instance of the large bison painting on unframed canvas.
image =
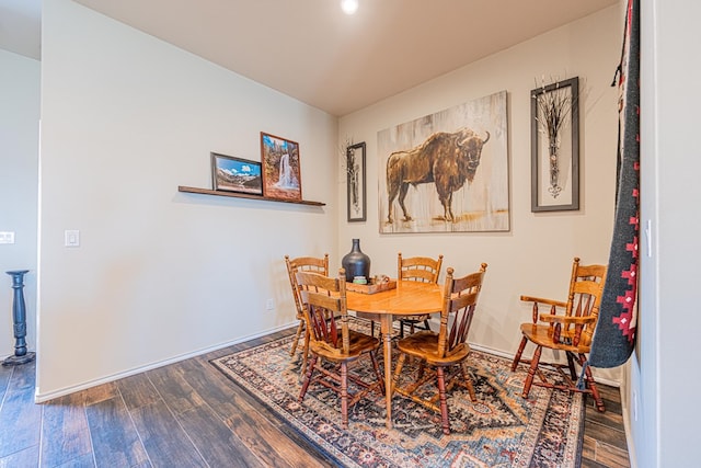
<svg viewBox="0 0 701 468">
<path fill-rule="evenodd" d="M 506 92 L 378 133 L 380 232 L 509 230 Z"/>
</svg>

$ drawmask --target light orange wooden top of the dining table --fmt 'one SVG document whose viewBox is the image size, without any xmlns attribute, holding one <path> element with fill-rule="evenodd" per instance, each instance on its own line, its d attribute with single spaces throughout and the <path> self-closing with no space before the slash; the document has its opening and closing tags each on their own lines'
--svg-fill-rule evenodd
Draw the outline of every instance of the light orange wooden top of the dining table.
<svg viewBox="0 0 701 468">
<path fill-rule="evenodd" d="M 376 294 L 346 292 L 348 310 L 357 312 L 413 316 L 443 309 L 441 286 L 412 281 L 397 282 L 397 288 Z"/>
</svg>

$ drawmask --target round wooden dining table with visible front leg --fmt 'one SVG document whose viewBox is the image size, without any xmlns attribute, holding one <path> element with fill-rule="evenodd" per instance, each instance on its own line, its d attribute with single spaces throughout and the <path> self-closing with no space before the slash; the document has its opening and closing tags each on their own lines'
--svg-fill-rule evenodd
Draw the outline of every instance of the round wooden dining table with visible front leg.
<svg viewBox="0 0 701 468">
<path fill-rule="evenodd" d="M 348 310 L 380 322 L 384 354 L 387 427 L 392 429 L 392 322 L 397 318 L 436 313 L 443 309 L 441 287 L 433 283 L 398 281 L 393 289 L 375 294 L 346 292 Z"/>
</svg>

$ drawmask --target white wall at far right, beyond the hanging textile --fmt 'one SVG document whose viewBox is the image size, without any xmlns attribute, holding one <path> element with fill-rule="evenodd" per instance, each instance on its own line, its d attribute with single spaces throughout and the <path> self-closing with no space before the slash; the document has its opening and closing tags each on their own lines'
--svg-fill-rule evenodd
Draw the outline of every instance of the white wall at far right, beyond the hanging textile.
<svg viewBox="0 0 701 468">
<path fill-rule="evenodd" d="M 698 2 L 641 2 L 641 310 L 631 400 L 637 466 L 699 465 Z M 647 253 L 647 242 L 651 252 Z"/>
</svg>

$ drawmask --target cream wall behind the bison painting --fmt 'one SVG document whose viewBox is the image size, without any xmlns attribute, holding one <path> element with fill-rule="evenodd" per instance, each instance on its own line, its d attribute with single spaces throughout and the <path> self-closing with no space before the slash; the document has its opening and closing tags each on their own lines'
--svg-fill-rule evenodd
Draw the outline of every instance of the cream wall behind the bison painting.
<svg viewBox="0 0 701 468">
<path fill-rule="evenodd" d="M 564 300 L 575 255 L 584 263 L 608 262 L 618 128 L 618 94 L 610 83 L 620 56 L 622 14 L 620 7 L 602 10 L 341 118 L 341 139 L 367 142 L 369 191 L 367 222 L 347 224 L 345 212 L 338 212 L 340 249 L 348 250 L 350 239 L 360 238 L 376 273 L 394 273 L 398 251 L 443 253 L 444 265 L 458 274 L 489 263 L 470 341 L 513 355 L 520 341 L 519 323 L 530 320 L 530 306 L 520 303 L 521 294 Z M 529 94 L 542 76 L 581 80 L 578 212 L 530 210 Z M 510 231 L 379 235 L 378 196 L 386 195 L 377 191 L 378 178 L 384 174 L 378 168 L 378 130 L 502 90 L 508 92 Z M 338 179 L 344 181 L 344 174 Z M 345 190 L 341 184 L 341 201 Z M 619 378 L 618 369 L 595 373 Z"/>
</svg>

